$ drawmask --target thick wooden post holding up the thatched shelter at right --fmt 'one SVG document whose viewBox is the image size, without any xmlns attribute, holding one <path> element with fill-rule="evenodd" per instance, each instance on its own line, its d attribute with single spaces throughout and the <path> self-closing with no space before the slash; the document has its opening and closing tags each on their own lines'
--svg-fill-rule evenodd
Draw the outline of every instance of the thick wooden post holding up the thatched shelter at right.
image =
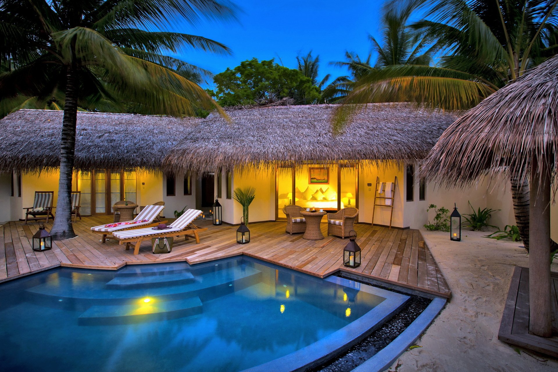
<svg viewBox="0 0 558 372">
<path fill-rule="evenodd" d="M 552 335 L 550 289 L 550 170 L 531 160 L 531 215 L 529 252 L 529 331 Z"/>
</svg>

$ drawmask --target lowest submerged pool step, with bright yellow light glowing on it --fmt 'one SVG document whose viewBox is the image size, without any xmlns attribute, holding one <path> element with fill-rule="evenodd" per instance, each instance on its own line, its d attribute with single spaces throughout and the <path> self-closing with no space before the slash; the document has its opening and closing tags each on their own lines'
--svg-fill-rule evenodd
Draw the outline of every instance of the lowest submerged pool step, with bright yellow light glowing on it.
<svg viewBox="0 0 558 372">
<path fill-rule="evenodd" d="M 159 302 L 141 299 L 135 305 L 92 306 L 78 318 L 79 325 L 130 324 L 146 321 L 170 320 L 201 313 L 199 297 Z"/>
</svg>

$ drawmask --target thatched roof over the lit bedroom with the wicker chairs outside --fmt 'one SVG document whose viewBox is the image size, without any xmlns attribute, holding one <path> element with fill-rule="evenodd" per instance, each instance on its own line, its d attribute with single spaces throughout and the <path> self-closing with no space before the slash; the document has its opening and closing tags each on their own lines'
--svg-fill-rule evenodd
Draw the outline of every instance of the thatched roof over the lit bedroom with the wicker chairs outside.
<svg viewBox="0 0 558 372">
<path fill-rule="evenodd" d="M 422 159 L 457 118 L 455 113 L 408 104 L 368 104 L 334 134 L 331 119 L 336 109 L 338 105 L 227 110 L 230 122 L 212 113 L 172 149 L 164 170 Z"/>
</svg>

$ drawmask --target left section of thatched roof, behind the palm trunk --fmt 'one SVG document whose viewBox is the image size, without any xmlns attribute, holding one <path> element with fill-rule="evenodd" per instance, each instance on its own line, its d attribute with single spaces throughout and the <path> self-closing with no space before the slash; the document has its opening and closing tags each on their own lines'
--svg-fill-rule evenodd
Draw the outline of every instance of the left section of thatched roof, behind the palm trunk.
<svg viewBox="0 0 558 372">
<path fill-rule="evenodd" d="M 62 112 L 18 110 L 0 120 L 0 171 L 60 165 Z M 196 118 L 78 112 L 75 168 L 161 169 Z"/>
</svg>

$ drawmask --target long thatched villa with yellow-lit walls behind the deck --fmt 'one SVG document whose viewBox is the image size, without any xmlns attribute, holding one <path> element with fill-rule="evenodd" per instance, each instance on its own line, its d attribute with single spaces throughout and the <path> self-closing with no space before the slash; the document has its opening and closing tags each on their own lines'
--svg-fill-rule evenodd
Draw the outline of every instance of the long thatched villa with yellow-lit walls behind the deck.
<svg viewBox="0 0 558 372">
<path fill-rule="evenodd" d="M 426 223 L 430 203 L 488 205 L 484 186 L 449 196 L 417 173 L 418 161 L 456 113 L 369 104 L 334 134 L 331 118 L 337 108 L 234 109 L 227 110 L 230 120 L 217 114 L 199 119 L 79 113 L 74 189 L 83 195 L 84 214 L 108 214 L 114 201 L 126 197 L 139 205 L 165 201 L 165 213 L 172 216 L 185 205 L 210 206 L 217 196 L 223 221 L 232 224 L 242 215 L 232 191 L 245 186 L 256 187 L 251 222 L 284 220 L 282 209 L 288 204 L 326 210 L 352 206 L 359 209 L 360 223 L 417 228 Z M 5 143 L 0 171 L 16 171 L 13 180 L 9 173 L 0 180 L 0 188 L 14 190 L 8 198 L 11 212 L 0 219 L 20 218 L 22 204 L 32 204 L 36 190 L 57 191 L 56 122 L 61 116 L 20 110 L 0 120 Z M 37 175 L 39 170 L 48 171 Z M 377 182 L 383 190 L 395 182 L 393 214 L 392 206 L 374 206 Z M 512 212 L 502 215 L 501 223 L 511 222 Z"/>
</svg>

